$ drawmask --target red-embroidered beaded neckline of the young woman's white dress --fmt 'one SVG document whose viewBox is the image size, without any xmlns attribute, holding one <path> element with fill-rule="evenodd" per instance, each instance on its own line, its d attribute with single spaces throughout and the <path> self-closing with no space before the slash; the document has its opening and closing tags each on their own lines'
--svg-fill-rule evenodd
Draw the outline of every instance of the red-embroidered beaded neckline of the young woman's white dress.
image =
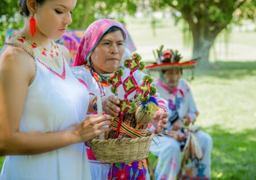
<svg viewBox="0 0 256 180">
<path fill-rule="evenodd" d="M 6 44 L 22 48 L 30 54 L 35 61 L 38 61 L 54 75 L 65 80 L 66 71 L 64 56 L 59 49 L 59 46 L 54 41 L 51 40 L 51 47 L 45 48 L 42 45 L 36 44 L 36 42 L 32 42 L 30 39 L 26 38 L 26 36 L 23 36 L 22 33 L 18 33 L 6 42 Z"/>
</svg>

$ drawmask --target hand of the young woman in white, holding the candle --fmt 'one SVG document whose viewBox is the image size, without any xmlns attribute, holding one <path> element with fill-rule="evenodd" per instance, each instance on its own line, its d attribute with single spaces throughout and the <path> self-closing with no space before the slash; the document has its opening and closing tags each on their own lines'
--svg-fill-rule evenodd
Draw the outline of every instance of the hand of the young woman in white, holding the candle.
<svg viewBox="0 0 256 180">
<path fill-rule="evenodd" d="M 89 139 L 95 138 L 102 132 L 109 131 L 110 128 L 103 127 L 110 124 L 110 115 L 89 115 L 75 128 L 77 143 L 86 142 Z"/>
</svg>

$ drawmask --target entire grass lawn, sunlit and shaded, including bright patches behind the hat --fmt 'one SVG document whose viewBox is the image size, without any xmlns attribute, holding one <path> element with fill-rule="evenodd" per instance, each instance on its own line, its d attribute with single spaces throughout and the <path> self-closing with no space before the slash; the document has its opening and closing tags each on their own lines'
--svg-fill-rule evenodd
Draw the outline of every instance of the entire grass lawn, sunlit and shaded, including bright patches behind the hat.
<svg viewBox="0 0 256 180">
<path fill-rule="evenodd" d="M 179 49 L 184 58 L 191 56 L 183 46 L 180 26 L 162 20 L 158 35 L 152 36 L 148 22 L 127 19 L 127 29 L 144 60 L 152 61 L 152 50 L 161 44 Z M 213 68 L 197 70 L 191 82 L 200 112 L 196 124 L 213 138 L 212 179 L 256 179 L 256 44 L 252 41 L 256 33 L 232 32 L 226 49 L 229 54 L 225 53 L 224 36 L 214 45 L 218 53 Z M 0 157 L 0 169 L 2 162 Z"/>
</svg>

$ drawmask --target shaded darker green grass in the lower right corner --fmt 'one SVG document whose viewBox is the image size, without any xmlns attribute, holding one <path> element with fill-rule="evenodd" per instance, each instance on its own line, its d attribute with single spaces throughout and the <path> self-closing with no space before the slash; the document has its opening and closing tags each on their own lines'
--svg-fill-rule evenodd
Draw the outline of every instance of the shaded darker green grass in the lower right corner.
<svg viewBox="0 0 256 180">
<path fill-rule="evenodd" d="M 256 179 L 256 131 L 230 133 L 219 125 L 206 129 L 213 138 L 212 179 Z M 156 158 L 150 154 L 153 165 Z"/>
</svg>

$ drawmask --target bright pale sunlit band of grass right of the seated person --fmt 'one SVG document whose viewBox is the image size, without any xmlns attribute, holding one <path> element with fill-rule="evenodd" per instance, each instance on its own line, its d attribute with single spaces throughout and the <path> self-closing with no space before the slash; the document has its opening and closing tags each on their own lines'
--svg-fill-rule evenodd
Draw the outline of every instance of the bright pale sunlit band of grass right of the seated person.
<svg viewBox="0 0 256 180">
<path fill-rule="evenodd" d="M 200 112 L 197 118 L 199 125 L 220 125 L 230 132 L 256 128 L 256 63 L 240 64 L 243 64 L 241 70 L 236 71 L 231 68 L 236 66 L 225 63 L 226 70 L 197 72 L 191 88 Z M 255 76 L 242 74 L 252 65 L 255 69 L 250 71 Z M 226 71 L 234 78 L 218 76 L 221 71 Z"/>
</svg>

